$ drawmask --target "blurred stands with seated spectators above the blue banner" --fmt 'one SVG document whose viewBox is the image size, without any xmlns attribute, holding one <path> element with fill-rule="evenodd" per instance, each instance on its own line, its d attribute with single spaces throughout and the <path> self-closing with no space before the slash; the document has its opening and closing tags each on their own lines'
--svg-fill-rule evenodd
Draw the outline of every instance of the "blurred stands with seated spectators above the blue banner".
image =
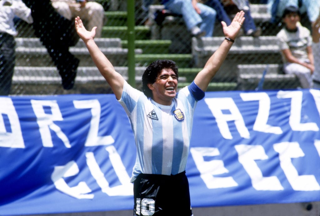
<svg viewBox="0 0 320 216">
<path fill-rule="evenodd" d="M 128 77 L 128 11 L 135 14 L 136 85 L 154 60 L 179 66 L 189 84 L 245 12 L 243 28 L 208 91 L 319 88 L 318 0 L 0 0 L 0 95 L 111 93 L 74 29 Z"/>
</svg>

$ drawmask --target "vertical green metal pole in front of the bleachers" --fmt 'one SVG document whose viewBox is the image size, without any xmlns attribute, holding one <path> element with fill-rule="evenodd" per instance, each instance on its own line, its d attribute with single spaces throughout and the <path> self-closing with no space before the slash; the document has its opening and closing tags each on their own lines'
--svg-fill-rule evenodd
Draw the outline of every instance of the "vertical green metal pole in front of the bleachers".
<svg viewBox="0 0 320 216">
<path fill-rule="evenodd" d="M 135 58 L 134 58 L 134 40 L 135 40 L 135 17 L 134 17 L 135 0 L 127 1 L 127 25 L 128 25 L 128 83 L 136 87 L 135 81 Z"/>
</svg>

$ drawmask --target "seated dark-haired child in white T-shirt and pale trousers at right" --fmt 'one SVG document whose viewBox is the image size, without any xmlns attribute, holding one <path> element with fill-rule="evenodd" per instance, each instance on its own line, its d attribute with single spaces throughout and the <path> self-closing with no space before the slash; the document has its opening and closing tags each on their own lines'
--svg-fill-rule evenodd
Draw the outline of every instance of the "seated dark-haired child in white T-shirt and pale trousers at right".
<svg viewBox="0 0 320 216">
<path fill-rule="evenodd" d="M 284 9 L 282 20 L 285 26 L 277 34 L 277 42 L 284 62 L 284 72 L 297 75 L 301 87 L 310 88 L 311 75 L 315 69 L 310 31 L 300 25 L 300 12 L 295 6 Z"/>
</svg>

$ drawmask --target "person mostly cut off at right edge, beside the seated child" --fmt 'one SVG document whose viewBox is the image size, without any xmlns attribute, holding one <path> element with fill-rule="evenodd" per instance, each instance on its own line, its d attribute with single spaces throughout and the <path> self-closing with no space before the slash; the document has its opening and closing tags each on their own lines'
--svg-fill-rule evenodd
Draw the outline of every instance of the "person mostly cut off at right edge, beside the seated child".
<svg viewBox="0 0 320 216">
<path fill-rule="evenodd" d="M 312 52 L 316 59 L 312 74 L 313 88 L 320 89 L 320 14 L 312 24 Z"/>
</svg>

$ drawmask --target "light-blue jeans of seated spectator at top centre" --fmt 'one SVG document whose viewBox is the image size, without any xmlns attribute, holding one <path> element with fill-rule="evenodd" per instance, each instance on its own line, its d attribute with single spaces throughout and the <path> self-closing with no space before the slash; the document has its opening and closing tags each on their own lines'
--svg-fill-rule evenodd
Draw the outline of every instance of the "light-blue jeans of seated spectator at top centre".
<svg viewBox="0 0 320 216">
<path fill-rule="evenodd" d="M 191 4 L 191 0 L 169 0 L 164 3 L 165 9 L 182 15 L 182 18 L 188 28 L 199 26 L 202 31 L 205 31 L 205 37 L 212 37 L 214 24 L 216 20 L 216 11 L 204 4 L 197 3 L 201 10 L 198 14 Z"/>
</svg>

